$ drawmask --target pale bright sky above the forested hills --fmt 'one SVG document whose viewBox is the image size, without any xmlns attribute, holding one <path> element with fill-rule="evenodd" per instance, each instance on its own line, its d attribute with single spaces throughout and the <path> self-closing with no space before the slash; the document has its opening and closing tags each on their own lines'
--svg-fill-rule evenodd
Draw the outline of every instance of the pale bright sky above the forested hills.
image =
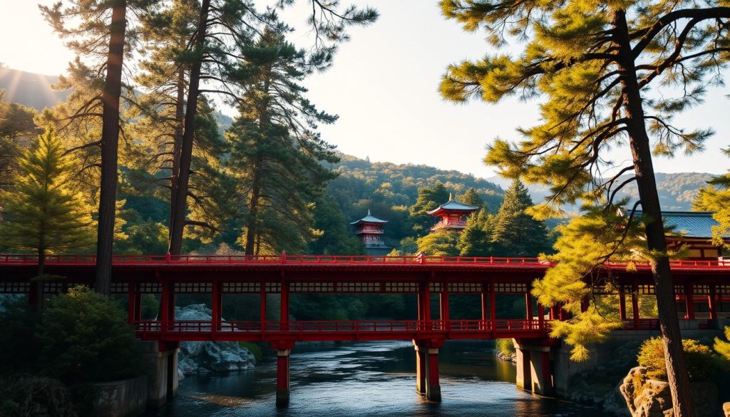
<svg viewBox="0 0 730 417">
<path fill-rule="evenodd" d="M 380 19 L 365 28 L 351 28 L 351 40 L 339 48 L 331 69 L 304 83 L 313 103 L 339 115 L 334 125 L 320 126 L 323 138 L 343 153 L 371 161 L 494 175 L 495 169 L 483 164 L 485 146 L 496 137 L 519 139 L 515 129 L 538 122 L 539 101 L 444 102 L 438 85 L 448 64 L 497 52 L 484 34 L 466 33 L 442 18 L 435 0 L 353 1 L 375 7 Z M 42 19 L 38 3 L 53 1 L 0 0 L 0 63 L 62 74 L 73 56 Z M 306 16 L 295 8 L 283 18 L 303 27 Z M 298 31 L 291 41 L 307 46 L 310 35 Z M 704 153 L 655 158 L 656 171 L 719 174 L 730 168 L 730 160 L 719 151 L 730 145 L 729 94 L 727 86 L 711 89 L 704 104 L 675 119 L 676 126 L 688 130 L 716 131 Z M 232 110 L 223 112 L 234 116 Z M 628 161 L 628 150 L 615 150 L 611 158 Z"/>
</svg>

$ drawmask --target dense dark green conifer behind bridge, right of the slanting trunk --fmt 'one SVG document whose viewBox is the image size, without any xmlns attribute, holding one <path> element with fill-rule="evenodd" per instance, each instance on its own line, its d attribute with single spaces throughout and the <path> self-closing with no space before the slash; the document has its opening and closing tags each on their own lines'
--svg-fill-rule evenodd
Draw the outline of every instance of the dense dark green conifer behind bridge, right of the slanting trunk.
<svg viewBox="0 0 730 417">
<path fill-rule="evenodd" d="M 299 85 L 325 61 L 268 29 L 241 54 L 245 61 L 237 72 L 245 93 L 228 139 L 229 167 L 245 200 L 242 246 L 247 255 L 266 247 L 301 249 L 317 234 L 310 204 L 334 178 L 322 162 L 337 161 L 334 147 L 315 131 L 318 123 L 333 123 L 337 116 L 317 110 Z"/>
</svg>

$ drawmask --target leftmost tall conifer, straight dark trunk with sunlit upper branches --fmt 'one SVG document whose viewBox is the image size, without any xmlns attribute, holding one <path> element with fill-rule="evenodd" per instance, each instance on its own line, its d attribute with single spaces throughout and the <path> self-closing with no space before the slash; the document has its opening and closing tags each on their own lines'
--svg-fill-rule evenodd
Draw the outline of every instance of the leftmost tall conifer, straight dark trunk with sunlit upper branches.
<svg viewBox="0 0 730 417">
<path fill-rule="evenodd" d="M 71 80 L 85 88 L 74 92 L 77 104 L 63 120 L 85 126 L 89 119 L 101 119 L 99 136 L 83 143 L 78 149 L 99 148 L 99 226 L 96 242 L 96 271 L 94 289 L 110 294 L 112 281 L 112 243 L 114 242 L 115 207 L 118 182 L 118 148 L 120 133 L 120 99 L 123 86 L 124 47 L 127 22 L 134 13 L 142 14 L 158 0 L 57 1 L 51 7 L 40 6 L 41 12 L 64 39 L 77 59 L 69 65 Z M 128 11 L 131 11 L 128 15 Z M 88 66 L 80 57 L 88 58 Z M 102 75 L 105 74 L 105 75 Z M 61 79 L 61 86 L 69 87 Z M 88 93 L 88 95 L 85 95 Z M 98 120 L 96 121 L 98 123 Z M 67 125 L 68 123 L 66 123 Z M 86 135 L 81 137 L 86 138 Z"/>
</svg>

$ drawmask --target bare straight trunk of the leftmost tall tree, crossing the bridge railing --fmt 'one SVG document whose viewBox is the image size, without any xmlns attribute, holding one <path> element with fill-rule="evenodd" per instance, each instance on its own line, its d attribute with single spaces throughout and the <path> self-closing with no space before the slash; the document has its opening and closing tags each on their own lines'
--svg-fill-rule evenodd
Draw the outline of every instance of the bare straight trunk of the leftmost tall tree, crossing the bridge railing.
<svg viewBox="0 0 730 417">
<path fill-rule="evenodd" d="M 101 126 L 101 188 L 99 190 L 99 232 L 96 242 L 94 289 L 109 295 L 112 286 L 112 244 L 117 200 L 117 151 L 119 148 L 119 96 L 122 93 L 122 62 L 126 31 L 126 0 L 115 1 L 112 7 L 107 79 Z"/>
</svg>

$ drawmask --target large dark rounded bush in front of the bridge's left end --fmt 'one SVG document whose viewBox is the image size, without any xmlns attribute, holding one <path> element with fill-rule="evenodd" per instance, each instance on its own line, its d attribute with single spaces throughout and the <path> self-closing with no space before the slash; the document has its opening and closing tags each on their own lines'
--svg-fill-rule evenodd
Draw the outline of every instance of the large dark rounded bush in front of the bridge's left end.
<svg viewBox="0 0 730 417">
<path fill-rule="evenodd" d="M 126 313 L 86 287 L 50 299 L 35 334 L 39 363 L 66 383 L 142 375 L 142 358 Z"/>
</svg>

